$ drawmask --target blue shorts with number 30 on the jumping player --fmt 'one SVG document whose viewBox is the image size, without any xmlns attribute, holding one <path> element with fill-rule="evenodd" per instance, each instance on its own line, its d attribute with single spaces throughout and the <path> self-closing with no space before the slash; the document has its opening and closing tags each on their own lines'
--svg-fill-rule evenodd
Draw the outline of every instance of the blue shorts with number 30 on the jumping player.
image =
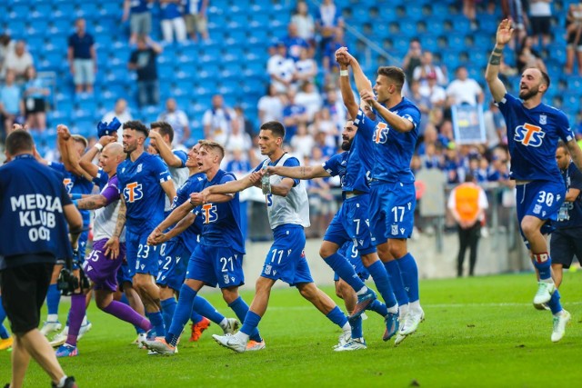
<svg viewBox="0 0 582 388">
<path fill-rule="evenodd" d="M 557 212 L 566 197 L 566 186 L 563 183 L 550 181 L 532 181 L 516 186 L 516 208 L 519 233 L 529 249 L 529 243 L 521 230 L 521 222 L 526 215 L 532 215 L 540 220 L 546 220 L 542 225 L 542 234 L 551 234 L 557 221 Z"/>
</svg>

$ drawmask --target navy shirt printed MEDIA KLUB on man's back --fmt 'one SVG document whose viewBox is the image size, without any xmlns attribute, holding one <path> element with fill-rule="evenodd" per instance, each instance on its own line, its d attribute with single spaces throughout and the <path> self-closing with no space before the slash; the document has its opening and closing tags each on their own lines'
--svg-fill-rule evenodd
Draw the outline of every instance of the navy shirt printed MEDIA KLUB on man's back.
<svg viewBox="0 0 582 388">
<path fill-rule="evenodd" d="M 62 174 L 22 154 L 0 167 L 0 270 L 47 259 L 72 257 L 63 208 L 71 200 Z M 14 261 L 11 256 L 17 257 Z M 51 257 L 52 256 L 52 257 Z"/>
</svg>

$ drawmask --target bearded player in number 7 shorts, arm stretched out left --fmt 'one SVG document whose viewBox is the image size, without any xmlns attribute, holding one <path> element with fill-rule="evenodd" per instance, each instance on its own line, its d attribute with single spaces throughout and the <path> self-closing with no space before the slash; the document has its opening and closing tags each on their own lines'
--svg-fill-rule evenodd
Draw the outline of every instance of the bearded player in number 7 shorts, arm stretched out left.
<svg viewBox="0 0 582 388">
<path fill-rule="evenodd" d="M 361 254 L 362 262 L 367 271 L 372 274 L 378 290 L 380 290 L 389 305 L 387 310 L 384 303 L 374 303 L 373 306 L 373 309 L 380 313 L 386 321 L 386 332 L 383 340 L 387 341 L 398 330 L 398 303 L 396 303 L 396 298 L 392 292 L 386 268 L 378 260 L 376 247 L 371 242 L 370 232 L 367 228 L 370 196 L 366 177 L 369 174 L 371 163 L 365 163 L 363 160 L 366 159 L 366 143 L 369 142 L 366 142 L 361 137 L 356 137 L 356 131 L 357 128 L 352 121 L 346 122 L 341 144 L 341 148 L 345 152 L 335 154 L 323 165 L 300 167 L 269 166 L 266 168 L 266 172 L 294 179 L 340 176 L 344 203 L 327 228 L 319 254 L 339 274 L 339 277 L 346 284 L 350 284 L 356 294 L 360 296 L 360 306 L 357 304 L 354 306 L 351 310 L 353 319 L 350 318 L 350 320 L 360 321 L 359 314 L 366 305 L 369 307 L 369 303 L 373 303 L 372 301 L 375 299 L 374 292 L 367 289 L 364 282 L 356 274 L 352 264 L 346 260 L 346 257 L 337 252 L 347 241 L 354 242 L 355 248 Z M 371 148 L 371 146 L 368 148 Z M 371 150 L 367 151 L 371 153 Z M 361 297 L 366 294 L 368 298 Z M 366 301 L 366 303 L 362 303 L 362 300 Z M 360 349 L 362 345 L 365 346 L 363 339 L 355 337 L 352 341 L 346 343 L 344 347 L 346 349 L 352 347 Z"/>
</svg>

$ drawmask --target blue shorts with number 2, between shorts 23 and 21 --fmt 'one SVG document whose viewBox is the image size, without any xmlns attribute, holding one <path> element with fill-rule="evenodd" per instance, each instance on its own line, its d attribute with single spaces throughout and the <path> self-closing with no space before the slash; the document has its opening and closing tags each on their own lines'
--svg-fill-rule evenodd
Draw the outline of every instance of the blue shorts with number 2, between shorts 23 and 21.
<svg viewBox="0 0 582 388">
<path fill-rule="evenodd" d="M 179 291 L 186 278 L 186 268 L 192 252 L 182 239 L 172 239 L 160 245 L 160 265 L 156 283 Z"/>
</svg>

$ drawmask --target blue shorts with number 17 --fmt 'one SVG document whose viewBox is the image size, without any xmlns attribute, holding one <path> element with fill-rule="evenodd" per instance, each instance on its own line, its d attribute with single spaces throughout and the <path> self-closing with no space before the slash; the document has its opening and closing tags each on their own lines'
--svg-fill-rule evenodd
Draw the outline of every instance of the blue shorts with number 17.
<svg viewBox="0 0 582 388">
<path fill-rule="evenodd" d="M 415 184 L 373 181 L 370 184 L 370 234 L 372 244 L 391 238 L 410 238 L 415 222 Z"/>
</svg>

